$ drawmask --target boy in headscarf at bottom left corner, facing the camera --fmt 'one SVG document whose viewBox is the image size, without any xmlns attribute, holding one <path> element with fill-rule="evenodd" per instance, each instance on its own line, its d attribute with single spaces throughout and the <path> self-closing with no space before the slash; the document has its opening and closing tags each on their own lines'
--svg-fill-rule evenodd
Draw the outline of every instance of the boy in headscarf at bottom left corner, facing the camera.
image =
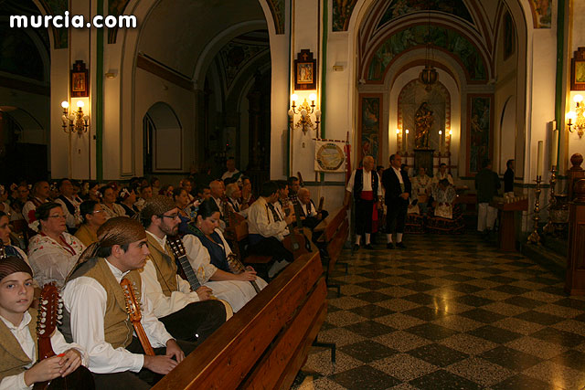
<svg viewBox="0 0 585 390">
<path fill-rule="evenodd" d="M 29 389 L 37 382 L 67 376 L 86 364 L 80 345 L 66 343 L 55 330 L 50 341 L 57 356 L 37 363 L 37 310 L 33 271 L 22 258 L 0 259 L 0 389 Z"/>
</svg>

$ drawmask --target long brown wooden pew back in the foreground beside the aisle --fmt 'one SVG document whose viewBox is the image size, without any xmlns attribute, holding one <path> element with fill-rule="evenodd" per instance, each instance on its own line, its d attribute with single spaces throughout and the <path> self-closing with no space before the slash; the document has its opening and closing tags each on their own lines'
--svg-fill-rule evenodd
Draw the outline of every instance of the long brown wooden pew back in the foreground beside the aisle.
<svg viewBox="0 0 585 390">
<path fill-rule="evenodd" d="M 290 388 L 324 322 L 326 295 L 318 251 L 297 258 L 154 389 Z"/>
</svg>

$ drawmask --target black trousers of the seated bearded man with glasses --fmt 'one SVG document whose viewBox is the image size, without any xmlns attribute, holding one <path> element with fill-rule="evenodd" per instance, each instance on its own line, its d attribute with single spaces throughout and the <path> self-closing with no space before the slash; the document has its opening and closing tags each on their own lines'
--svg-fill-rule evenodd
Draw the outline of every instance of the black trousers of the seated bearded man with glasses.
<svg viewBox="0 0 585 390">
<path fill-rule="evenodd" d="M 226 307 L 219 300 L 202 300 L 189 303 L 159 321 L 176 339 L 199 345 L 226 321 Z"/>
</svg>

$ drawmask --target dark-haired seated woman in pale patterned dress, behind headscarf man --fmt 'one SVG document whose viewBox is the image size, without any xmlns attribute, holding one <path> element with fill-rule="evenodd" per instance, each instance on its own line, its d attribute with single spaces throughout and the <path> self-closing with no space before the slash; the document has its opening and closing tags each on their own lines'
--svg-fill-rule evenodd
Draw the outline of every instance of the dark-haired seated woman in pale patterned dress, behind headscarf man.
<svg viewBox="0 0 585 390">
<path fill-rule="evenodd" d="M 65 213 L 58 203 L 48 202 L 37 207 L 35 214 L 39 233 L 30 239 L 28 260 L 39 286 L 52 281 L 60 287 L 85 246 L 80 239 L 66 232 Z"/>
</svg>

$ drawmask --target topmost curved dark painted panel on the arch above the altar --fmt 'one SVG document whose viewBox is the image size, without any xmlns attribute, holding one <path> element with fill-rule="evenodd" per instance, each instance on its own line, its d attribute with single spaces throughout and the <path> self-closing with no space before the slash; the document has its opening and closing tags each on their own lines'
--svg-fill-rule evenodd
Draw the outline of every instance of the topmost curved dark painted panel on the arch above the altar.
<svg viewBox="0 0 585 390">
<path fill-rule="evenodd" d="M 463 0 L 392 0 L 378 23 L 378 28 L 392 19 L 420 11 L 438 11 L 461 17 L 473 25 L 473 18 Z"/>
</svg>

